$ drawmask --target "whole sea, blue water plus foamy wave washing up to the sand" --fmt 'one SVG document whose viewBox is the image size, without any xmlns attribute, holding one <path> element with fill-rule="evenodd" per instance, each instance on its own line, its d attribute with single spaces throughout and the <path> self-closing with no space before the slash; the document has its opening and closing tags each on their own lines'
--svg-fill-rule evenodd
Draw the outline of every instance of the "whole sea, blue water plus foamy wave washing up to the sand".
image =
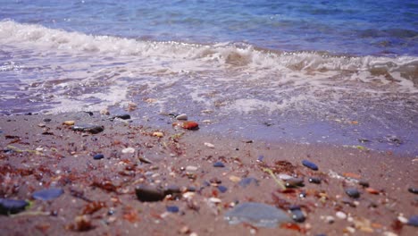
<svg viewBox="0 0 418 236">
<path fill-rule="evenodd" d="M 151 124 L 418 155 L 416 1 L 0 6 L 0 114 L 134 103 Z"/>
</svg>

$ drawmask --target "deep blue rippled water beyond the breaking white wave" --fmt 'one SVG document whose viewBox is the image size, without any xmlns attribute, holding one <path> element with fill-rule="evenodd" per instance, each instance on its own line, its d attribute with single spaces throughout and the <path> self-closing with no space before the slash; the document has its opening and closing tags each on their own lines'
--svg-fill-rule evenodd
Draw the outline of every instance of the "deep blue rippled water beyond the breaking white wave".
<svg viewBox="0 0 418 236">
<path fill-rule="evenodd" d="M 0 19 L 92 35 L 284 51 L 418 55 L 418 3 L 381 1 L 0 1 Z"/>
</svg>

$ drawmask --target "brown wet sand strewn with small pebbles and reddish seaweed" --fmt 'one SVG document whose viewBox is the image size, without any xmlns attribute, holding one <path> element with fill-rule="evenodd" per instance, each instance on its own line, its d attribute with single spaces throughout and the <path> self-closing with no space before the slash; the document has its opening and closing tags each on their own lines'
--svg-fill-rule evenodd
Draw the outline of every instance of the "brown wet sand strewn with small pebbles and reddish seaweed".
<svg viewBox="0 0 418 236">
<path fill-rule="evenodd" d="M 211 124 L 204 123 L 189 131 L 108 118 L 97 113 L 0 117 L 0 198 L 30 201 L 20 214 L 0 215 L 2 234 L 416 235 L 416 227 L 405 224 L 417 213 L 418 195 L 408 191 L 418 187 L 416 156 L 211 135 L 205 132 Z M 104 131 L 72 131 L 65 121 L 103 125 Z M 127 147 L 135 152 L 122 153 Z M 104 158 L 96 160 L 96 154 Z M 303 160 L 319 170 L 305 167 Z M 215 162 L 224 167 L 214 167 Z M 281 190 L 270 171 L 276 178 L 302 178 L 305 186 Z M 321 184 L 308 181 L 313 176 Z M 243 180 L 256 181 L 246 186 Z M 177 190 L 163 200 L 141 202 L 138 185 Z M 49 201 L 32 198 L 48 188 L 64 193 Z M 359 190 L 360 197 L 348 197 L 348 188 Z M 277 206 L 289 216 L 291 206 L 300 206 L 305 221 L 267 228 L 224 219 L 233 206 L 250 201 Z M 167 206 L 178 206 L 179 212 L 170 213 Z"/>
</svg>

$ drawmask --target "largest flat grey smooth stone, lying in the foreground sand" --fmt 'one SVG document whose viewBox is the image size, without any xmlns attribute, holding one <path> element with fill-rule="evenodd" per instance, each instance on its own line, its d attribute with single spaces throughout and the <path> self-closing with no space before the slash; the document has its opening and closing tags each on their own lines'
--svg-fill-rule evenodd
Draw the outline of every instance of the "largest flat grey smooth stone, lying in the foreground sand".
<svg viewBox="0 0 418 236">
<path fill-rule="evenodd" d="M 291 222 L 290 217 L 283 210 L 256 202 L 238 204 L 225 213 L 224 219 L 230 224 L 250 223 L 269 228 L 275 228 L 279 223 Z"/>
</svg>

